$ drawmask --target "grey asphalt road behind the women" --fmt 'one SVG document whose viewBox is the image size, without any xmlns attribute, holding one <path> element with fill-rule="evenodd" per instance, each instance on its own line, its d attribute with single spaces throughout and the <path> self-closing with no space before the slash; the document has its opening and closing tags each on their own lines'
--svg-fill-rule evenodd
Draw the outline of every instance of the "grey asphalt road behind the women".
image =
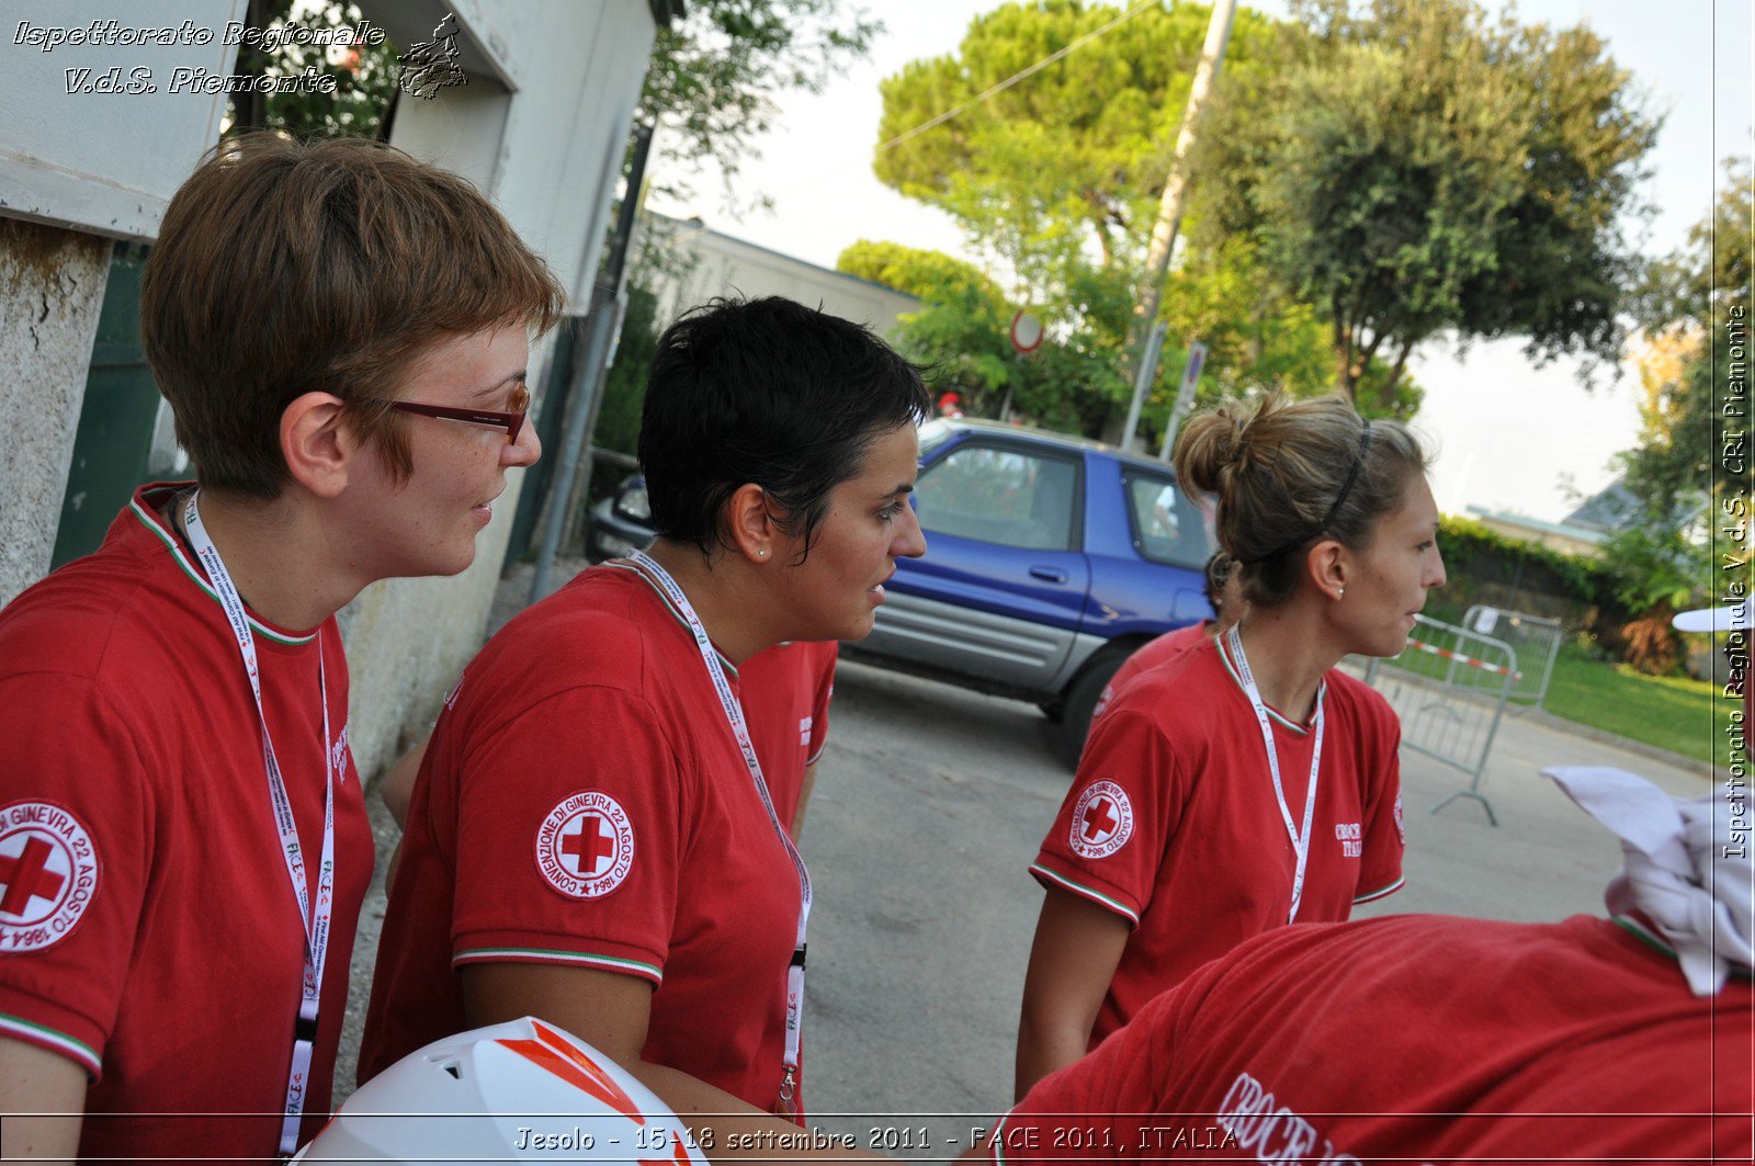
<svg viewBox="0 0 1755 1166">
<path fill-rule="evenodd" d="M 1618 848 L 1537 776 L 1550 764 L 1613 764 L 1681 795 L 1708 788 L 1694 773 L 1513 716 L 1488 771 L 1495 829 L 1469 803 L 1429 815 L 1465 778 L 1404 753 L 1409 885 L 1367 911 L 1601 913 Z M 946 1155 L 967 1145 L 969 1124 L 1009 1105 L 1042 896 L 1025 866 L 1069 780 L 1034 706 L 842 662 L 802 846 L 818 896 L 806 992 L 806 1103 L 818 1126 L 865 1143 L 874 1127 L 906 1138 L 925 1124 L 930 1155 Z M 395 827 L 379 825 L 383 867 Z M 374 889 L 353 969 L 355 1020 L 381 913 Z M 337 1105 L 355 1055 L 344 1045 Z"/>
</svg>

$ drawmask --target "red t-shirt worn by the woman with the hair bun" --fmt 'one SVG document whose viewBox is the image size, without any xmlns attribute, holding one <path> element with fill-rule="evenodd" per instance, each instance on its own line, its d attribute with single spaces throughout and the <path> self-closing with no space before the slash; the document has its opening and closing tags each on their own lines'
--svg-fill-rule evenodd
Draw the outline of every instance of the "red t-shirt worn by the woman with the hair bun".
<svg viewBox="0 0 1755 1166">
<path fill-rule="evenodd" d="M 1402 885 L 1400 723 L 1330 671 L 1309 859 L 1297 922 L 1344 920 Z M 1314 734 L 1269 720 L 1292 820 L 1302 824 Z M 1255 709 L 1218 641 L 1137 676 L 1092 727 L 1079 773 L 1030 873 L 1134 925 L 1092 1047 L 1146 1001 L 1292 910 L 1297 852 Z"/>
</svg>

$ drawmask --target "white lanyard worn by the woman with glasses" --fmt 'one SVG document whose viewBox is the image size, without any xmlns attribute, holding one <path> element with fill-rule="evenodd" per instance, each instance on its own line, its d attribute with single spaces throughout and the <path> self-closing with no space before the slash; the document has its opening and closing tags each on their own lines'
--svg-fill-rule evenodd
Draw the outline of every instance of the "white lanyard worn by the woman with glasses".
<svg viewBox="0 0 1755 1166">
<path fill-rule="evenodd" d="M 305 1089 L 311 1085 L 311 1057 L 318 1040 L 318 1004 L 323 1001 L 323 962 L 328 959 L 330 915 L 335 911 L 335 762 L 328 729 L 328 685 L 323 674 L 323 639 L 318 634 L 318 697 L 323 701 L 323 862 L 318 867 L 318 901 L 311 904 L 311 890 L 305 885 L 305 852 L 298 845 L 298 824 L 293 820 L 293 803 L 286 795 L 286 781 L 281 780 L 281 764 L 274 759 L 274 741 L 269 739 L 269 716 L 261 711 L 261 678 L 256 669 L 256 639 L 249 630 L 249 615 L 244 611 L 244 599 L 232 583 L 232 572 L 225 569 L 214 541 L 202 525 L 197 507 L 200 492 L 190 495 L 183 507 L 183 527 L 190 534 L 190 544 L 207 579 L 219 595 L 226 620 L 232 623 L 232 636 L 237 639 L 239 655 L 244 657 L 244 673 L 249 676 L 249 692 L 256 697 L 256 720 L 261 722 L 261 766 L 269 774 L 269 808 L 274 813 L 274 827 L 281 834 L 281 857 L 286 859 L 286 878 L 293 883 L 293 897 L 298 901 L 298 922 L 305 929 L 305 975 L 298 1001 L 298 1024 L 293 1026 L 293 1064 L 286 1076 L 286 1108 L 281 1117 L 281 1155 L 291 1155 L 298 1148 L 298 1122 L 305 1112 Z"/>
</svg>

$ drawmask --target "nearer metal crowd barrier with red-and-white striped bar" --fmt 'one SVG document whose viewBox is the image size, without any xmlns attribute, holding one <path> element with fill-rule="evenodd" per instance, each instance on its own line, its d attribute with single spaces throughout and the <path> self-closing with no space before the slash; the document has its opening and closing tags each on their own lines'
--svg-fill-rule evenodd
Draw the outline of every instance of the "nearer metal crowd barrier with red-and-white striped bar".
<svg viewBox="0 0 1755 1166">
<path fill-rule="evenodd" d="M 1415 616 L 1413 636 L 1399 657 L 1365 667 L 1365 683 L 1381 692 L 1402 720 L 1402 748 L 1469 774 L 1467 788 L 1429 813 L 1469 797 L 1481 803 L 1490 825 L 1499 825 L 1481 783 L 1516 681 L 1518 653 L 1511 644 L 1423 615 Z"/>
</svg>

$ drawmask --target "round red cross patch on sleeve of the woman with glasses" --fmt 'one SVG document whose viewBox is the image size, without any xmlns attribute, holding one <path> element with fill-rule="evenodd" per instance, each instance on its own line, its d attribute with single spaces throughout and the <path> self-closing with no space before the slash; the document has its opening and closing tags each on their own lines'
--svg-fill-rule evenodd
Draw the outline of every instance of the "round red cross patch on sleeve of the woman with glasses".
<svg viewBox="0 0 1755 1166">
<path fill-rule="evenodd" d="M 98 890 L 98 850 L 54 803 L 0 810 L 0 954 L 37 952 L 74 932 Z"/>
</svg>

